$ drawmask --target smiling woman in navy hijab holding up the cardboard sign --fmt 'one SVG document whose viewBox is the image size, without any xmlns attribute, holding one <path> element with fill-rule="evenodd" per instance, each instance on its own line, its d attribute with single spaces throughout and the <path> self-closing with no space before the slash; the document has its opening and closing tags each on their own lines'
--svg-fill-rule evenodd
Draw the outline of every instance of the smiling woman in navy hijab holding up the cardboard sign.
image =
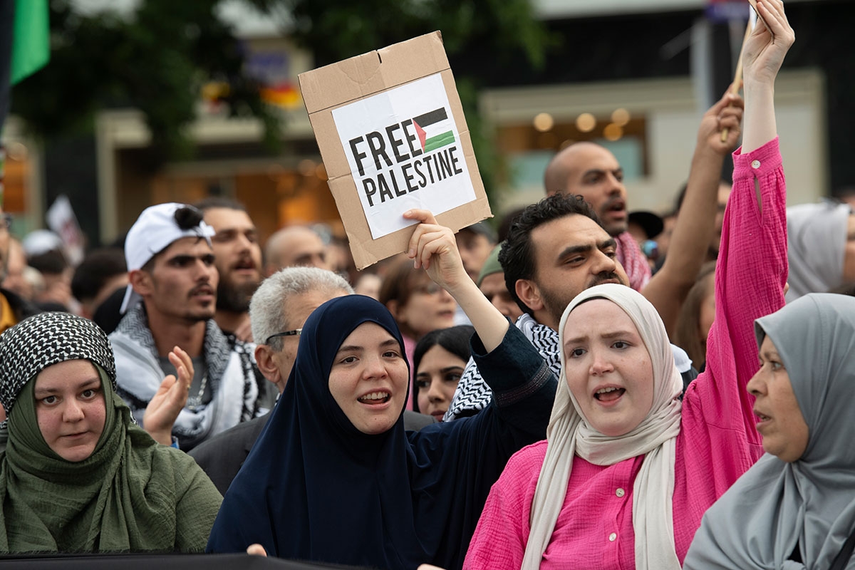
<svg viewBox="0 0 855 570">
<path fill-rule="evenodd" d="M 451 231 L 422 224 L 416 234 L 428 231 L 429 245 L 411 256 L 433 262 L 428 273 L 468 309 L 481 335 L 472 339 L 476 363 L 500 371 L 519 361 L 514 347 L 528 340 L 466 276 Z M 545 367 L 536 353 L 528 359 L 534 372 Z M 485 374 L 494 397 L 480 414 L 404 432 L 410 369 L 392 314 L 358 295 L 322 304 L 227 491 L 209 552 L 261 544 L 305 561 L 460 567 L 490 487 L 510 455 L 544 437 L 555 397 L 548 369 L 526 385 L 502 385 L 502 376 Z"/>
</svg>

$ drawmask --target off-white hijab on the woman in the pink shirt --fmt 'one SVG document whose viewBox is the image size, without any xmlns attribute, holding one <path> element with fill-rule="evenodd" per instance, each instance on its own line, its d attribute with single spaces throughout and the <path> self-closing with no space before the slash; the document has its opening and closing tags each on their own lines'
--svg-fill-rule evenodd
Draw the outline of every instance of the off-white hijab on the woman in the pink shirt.
<svg viewBox="0 0 855 570">
<path fill-rule="evenodd" d="M 634 430 L 617 437 L 605 436 L 588 424 L 567 384 L 564 327 L 573 309 L 595 298 L 608 299 L 629 315 L 653 365 L 652 407 Z M 642 454 L 646 457 L 633 487 L 635 567 L 638 570 L 680 568 L 674 543 L 672 496 L 675 438 L 680 433 L 682 380 L 674 364 L 662 319 L 639 292 L 625 285 L 597 285 L 582 291 L 564 309 L 558 334 L 561 339 L 561 377 L 546 428 L 549 444 L 534 491 L 531 531 L 522 570 L 540 567 L 563 506 L 575 455 L 595 465 L 614 465 Z"/>
</svg>

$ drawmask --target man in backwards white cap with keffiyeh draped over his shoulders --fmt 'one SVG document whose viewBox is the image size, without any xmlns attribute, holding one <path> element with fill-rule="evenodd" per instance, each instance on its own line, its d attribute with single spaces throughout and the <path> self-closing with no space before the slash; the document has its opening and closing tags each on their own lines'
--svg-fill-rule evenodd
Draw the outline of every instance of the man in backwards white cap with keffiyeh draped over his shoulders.
<svg viewBox="0 0 855 570">
<path fill-rule="evenodd" d="M 170 351 L 178 346 L 191 357 L 186 405 L 172 428 L 182 450 L 261 412 L 251 347 L 229 344 L 213 319 L 218 274 L 212 235 L 192 206 L 145 209 L 125 239 L 125 316 L 109 336 L 118 392 L 139 423 L 163 376 L 175 372 Z"/>
</svg>

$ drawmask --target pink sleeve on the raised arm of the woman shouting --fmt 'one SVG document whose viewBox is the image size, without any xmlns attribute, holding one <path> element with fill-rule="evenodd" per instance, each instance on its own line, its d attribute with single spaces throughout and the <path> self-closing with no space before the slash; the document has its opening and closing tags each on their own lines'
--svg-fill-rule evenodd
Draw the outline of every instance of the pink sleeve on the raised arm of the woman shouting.
<svg viewBox="0 0 855 570">
<path fill-rule="evenodd" d="M 734 188 L 716 264 L 716 320 L 707 338 L 705 373 L 690 385 L 683 404 L 683 429 L 691 432 L 702 421 L 708 431 L 716 496 L 762 454 L 746 384 L 758 370 L 754 320 L 784 305 L 786 196 L 777 138 L 747 155 L 734 152 Z M 693 439 L 687 433 L 690 454 Z"/>
</svg>

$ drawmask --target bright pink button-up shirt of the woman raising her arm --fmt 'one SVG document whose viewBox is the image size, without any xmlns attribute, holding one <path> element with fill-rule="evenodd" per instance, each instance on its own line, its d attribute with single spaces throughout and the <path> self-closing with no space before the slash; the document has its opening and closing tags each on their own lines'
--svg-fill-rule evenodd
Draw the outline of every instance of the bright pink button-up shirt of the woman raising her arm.
<svg viewBox="0 0 855 570">
<path fill-rule="evenodd" d="M 786 189 L 778 140 L 734 153 L 734 191 L 716 267 L 707 362 L 683 398 L 676 438 L 676 553 L 686 556 L 705 510 L 762 455 L 746 384 L 758 368 L 753 321 L 780 309 L 787 280 Z M 763 209 L 758 207 L 758 179 Z M 514 568 L 528 542 L 545 441 L 511 457 L 490 491 L 464 568 Z M 597 466 L 576 456 L 541 568 L 634 568 L 633 485 L 644 456 Z"/>
</svg>

